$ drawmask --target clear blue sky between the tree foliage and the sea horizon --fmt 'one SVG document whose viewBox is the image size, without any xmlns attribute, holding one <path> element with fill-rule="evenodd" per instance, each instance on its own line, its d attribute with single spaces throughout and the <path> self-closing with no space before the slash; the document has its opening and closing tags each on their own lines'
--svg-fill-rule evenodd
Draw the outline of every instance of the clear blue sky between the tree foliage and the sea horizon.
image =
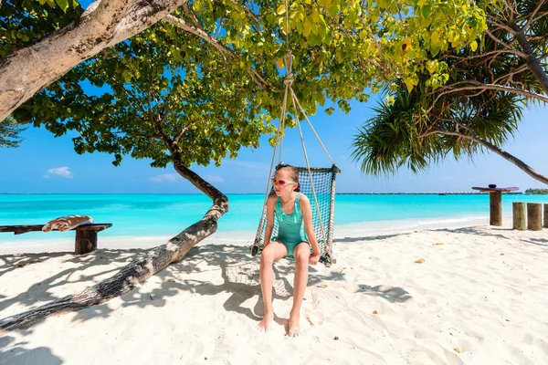
<svg viewBox="0 0 548 365">
<path fill-rule="evenodd" d="M 354 102 L 345 115 L 336 110 L 332 116 L 322 112 L 311 116 L 321 140 L 341 168 L 337 191 L 350 192 L 469 192 L 471 186 L 496 183 L 498 186 L 545 187 L 516 166 L 494 153 L 476 155 L 455 162 L 452 158 L 427 172 L 413 174 L 406 169 L 391 177 L 373 177 L 360 172 L 350 158 L 353 135 L 372 116 L 375 101 Z M 526 110 L 514 140 L 503 148 L 532 168 L 548 174 L 548 118 L 545 107 Z M 306 123 L 304 138 L 311 164 L 331 166 Z M 111 164 L 111 155 L 78 155 L 71 135 L 54 138 L 47 130 L 29 128 L 25 141 L 17 149 L 0 149 L 0 193 L 199 193 L 194 186 L 176 175 L 173 168 L 154 169 L 150 161 L 125 158 L 120 167 Z M 269 174 L 272 148 L 267 139 L 257 150 L 241 150 L 235 160 L 221 167 L 193 165 L 191 168 L 223 193 L 264 193 Z M 288 130 L 283 161 L 304 163 L 298 130 Z"/>
</svg>

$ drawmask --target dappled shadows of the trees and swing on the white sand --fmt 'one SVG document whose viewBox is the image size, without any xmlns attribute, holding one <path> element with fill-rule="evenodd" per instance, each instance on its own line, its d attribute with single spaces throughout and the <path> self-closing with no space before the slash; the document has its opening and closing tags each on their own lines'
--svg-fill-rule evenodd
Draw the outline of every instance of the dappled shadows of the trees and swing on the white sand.
<svg viewBox="0 0 548 365">
<path fill-rule="evenodd" d="M 378 239 L 372 237 L 371 240 Z M 90 282 L 95 276 L 113 275 L 122 266 L 127 265 L 134 259 L 146 255 L 149 250 L 108 250 L 102 249 L 87 255 L 68 256 L 64 262 L 77 264 L 76 267 L 66 268 L 53 273 L 46 279 L 42 279 L 20 293 L 16 297 L 0 297 L 0 312 L 14 304 L 23 305 L 27 309 L 36 308 L 47 302 L 56 300 L 52 289 L 55 287 L 70 286 L 75 282 Z M 0 276 L 6 273 L 21 269 L 26 266 L 46 263 L 47 260 L 58 258 L 66 253 L 55 254 L 23 254 L 23 255 L 0 255 Z M 112 264 L 115 267 L 112 267 Z M 98 266 L 104 266 L 98 271 Z M 92 269 L 91 269 L 92 268 Z M 308 287 L 316 286 L 320 282 L 341 281 L 344 274 L 338 272 L 340 267 L 332 266 L 330 269 L 310 267 Z M 222 277 L 222 284 L 214 284 L 209 280 L 200 279 L 200 273 L 218 270 Z M 162 284 L 153 288 L 152 291 L 142 291 L 142 287 L 135 287 L 130 293 L 121 296 L 122 307 L 137 306 L 146 308 L 149 306 L 163 307 L 168 297 L 187 291 L 201 296 L 216 296 L 219 293 L 229 293 L 230 296 L 223 304 L 227 311 L 236 312 L 254 321 L 259 321 L 264 313 L 262 295 L 259 284 L 259 258 L 249 255 L 248 247 L 241 245 L 200 245 L 190 250 L 183 260 L 168 266 L 157 273 L 156 276 L 162 279 Z M 288 280 L 294 272 L 294 265 L 288 260 L 280 260 L 274 266 L 274 287 L 273 297 L 276 300 L 290 300 L 293 293 L 292 283 Z M 202 276 L 203 277 L 203 276 Z M 384 297 L 390 302 L 405 302 L 410 298 L 406 290 L 399 287 L 369 287 L 360 286 L 359 292 L 365 295 Z M 149 289 L 150 290 L 150 289 Z M 68 289 L 67 293 L 71 290 Z M 30 293 L 30 295 L 29 295 Z M 76 292 L 72 293 L 76 294 Z M 253 309 L 244 307 L 248 300 L 255 301 Z M 91 318 L 106 318 L 115 310 L 103 304 L 79 310 L 74 321 L 86 321 Z M 4 318 L 5 316 L 0 316 Z M 279 324 L 286 324 L 287 318 L 275 318 Z M 30 334 L 33 328 L 24 331 Z M 23 341 L 15 342 L 14 337 L 5 336 L 0 342 L 0 364 L 4 363 L 35 363 L 34 359 L 40 359 L 40 363 L 58 364 L 61 363 L 51 349 L 40 347 L 28 349 L 28 344 Z M 1 362 L 7 361 L 7 362 Z"/>
</svg>

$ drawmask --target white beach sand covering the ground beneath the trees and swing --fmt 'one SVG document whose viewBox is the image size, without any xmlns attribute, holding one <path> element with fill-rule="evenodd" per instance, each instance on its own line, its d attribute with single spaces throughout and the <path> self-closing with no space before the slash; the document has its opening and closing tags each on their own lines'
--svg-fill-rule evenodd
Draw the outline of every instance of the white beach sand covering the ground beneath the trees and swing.
<svg viewBox="0 0 548 365">
<path fill-rule="evenodd" d="M 0 364 L 548 363 L 546 229 L 336 228 L 337 264 L 311 267 L 294 339 L 285 335 L 293 282 L 285 260 L 275 266 L 275 323 L 258 330 L 252 238 L 217 233 L 127 295 L 8 332 Z M 129 249 L 136 241 L 100 237 L 111 248 L 81 256 L 16 254 L 28 247 L 11 245 L 0 255 L 0 318 L 111 276 L 143 255 Z"/>
</svg>

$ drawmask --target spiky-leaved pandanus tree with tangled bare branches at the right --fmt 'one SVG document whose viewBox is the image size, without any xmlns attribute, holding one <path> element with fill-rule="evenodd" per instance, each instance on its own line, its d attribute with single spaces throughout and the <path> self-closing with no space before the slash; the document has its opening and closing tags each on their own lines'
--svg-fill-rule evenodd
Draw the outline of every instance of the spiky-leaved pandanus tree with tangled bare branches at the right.
<svg viewBox="0 0 548 365">
<path fill-rule="evenodd" d="M 404 165 L 417 172 L 450 152 L 458 159 L 487 149 L 548 183 L 548 177 L 501 149 L 518 129 L 526 103 L 548 98 L 531 57 L 501 49 L 501 42 L 514 45 L 518 41 L 509 40 L 511 33 L 500 26 L 499 9 L 491 9 L 497 16 L 488 12 L 491 26 L 481 39 L 479 53 L 475 47 L 450 49 L 427 62 L 417 85 L 393 85 L 387 104 L 375 110 L 374 118 L 354 138 L 353 158 L 362 162 L 364 172 L 395 172 Z M 539 29 L 545 26 L 548 12 L 539 12 L 540 6 L 520 9 L 530 12 L 520 16 L 520 22 L 532 19 L 527 28 L 542 33 Z M 547 45 L 545 33 L 528 37 L 539 42 L 533 56 Z M 428 75 L 432 64 L 441 65 L 438 79 Z M 543 65 L 544 76 L 545 72 Z"/>
</svg>

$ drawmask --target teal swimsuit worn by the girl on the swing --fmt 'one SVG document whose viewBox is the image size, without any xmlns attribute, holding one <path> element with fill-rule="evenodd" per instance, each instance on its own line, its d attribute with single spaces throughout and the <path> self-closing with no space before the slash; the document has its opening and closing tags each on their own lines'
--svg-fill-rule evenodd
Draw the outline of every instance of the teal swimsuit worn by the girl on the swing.
<svg viewBox="0 0 548 365">
<path fill-rule="evenodd" d="M 290 256 L 293 255 L 295 246 L 299 245 L 301 242 L 306 242 L 308 244 L 308 238 L 304 234 L 302 224 L 299 197 L 300 193 L 298 193 L 295 198 L 295 207 L 292 214 L 285 214 L 281 210 L 279 197 L 276 199 L 276 210 L 274 211 L 274 215 L 278 220 L 278 236 L 272 238 L 272 241 L 281 241 L 281 243 L 287 247 L 288 255 Z"/>
</svg>

